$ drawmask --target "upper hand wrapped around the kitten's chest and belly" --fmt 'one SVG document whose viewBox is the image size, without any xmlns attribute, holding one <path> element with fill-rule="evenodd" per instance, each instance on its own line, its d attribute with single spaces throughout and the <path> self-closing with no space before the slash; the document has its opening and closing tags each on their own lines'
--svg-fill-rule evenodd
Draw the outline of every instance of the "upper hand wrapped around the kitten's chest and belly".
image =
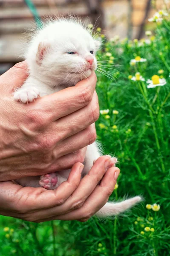
<svg viewBox="0 0 170 256">
<path fill-rule="evenodd" d="M 26 61 L 0 76 L 0 181 L 69 169 L 96 138 L 95 73 L 28 105 L 12 95 L 27 76 Z"/>
</svg>

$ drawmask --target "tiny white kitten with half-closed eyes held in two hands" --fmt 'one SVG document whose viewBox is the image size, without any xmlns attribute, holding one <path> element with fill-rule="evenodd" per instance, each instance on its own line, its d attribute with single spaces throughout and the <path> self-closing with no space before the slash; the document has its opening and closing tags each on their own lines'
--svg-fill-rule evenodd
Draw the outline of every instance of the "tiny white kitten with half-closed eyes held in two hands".
<svg viewBox="0 0 170 256">
<path fill-rule="evenodd" d="M 26 53 L 29 77 L 14 93 L 14 99 L 23 103 L 32 102 L 38 96 L 55 93 L 65 87 L 74 86 L 89 77 L 97 67 L 95 52 L 100 41 L 76 20 L 61 19 L 46 24 L 33 37 Z M 93 162 L 100 157 L 96 143 L 87 147 L 83 176 L 89 172 Z M 112 166 L 117 159 L 112 158 Z M 17 180 L 22 186 L 43 186 L 55 189 L 67 180 L 70 170 Z M 107 203 L 97 212 L 100 217 L 117 215 L 141 201 L 137 196 L 120 203 Z"/>
</svg>

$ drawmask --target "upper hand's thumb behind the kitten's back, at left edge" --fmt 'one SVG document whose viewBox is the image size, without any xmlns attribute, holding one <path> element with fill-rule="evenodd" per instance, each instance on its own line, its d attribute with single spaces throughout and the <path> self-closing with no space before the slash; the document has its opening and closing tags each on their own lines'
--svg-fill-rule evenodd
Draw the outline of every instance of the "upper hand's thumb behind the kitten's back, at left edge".
<svg viewBox="0 0 170 256">
<path fill-rule="evenodd" d="M 29 76 L 28 65 L 26 61 L 19 62 L 10 68 L 6 73 L 0 76 L 1 92 L 12 93 L 14 89 L 23 85 Z"/>
</svg>

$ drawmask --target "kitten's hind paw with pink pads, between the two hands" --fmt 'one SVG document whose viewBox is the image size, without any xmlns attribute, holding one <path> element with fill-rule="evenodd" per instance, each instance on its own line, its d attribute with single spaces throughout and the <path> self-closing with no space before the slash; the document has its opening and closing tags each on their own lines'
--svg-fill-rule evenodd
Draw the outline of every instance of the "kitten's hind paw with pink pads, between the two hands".
<svg viewBox="0 0 170 256">
<path fill-rule="evenodd" d="M 55 189 L 57 187 L 58 178 L 55 172 L 40 176 L 39 184 L 44 189 Z"/>
</svg>

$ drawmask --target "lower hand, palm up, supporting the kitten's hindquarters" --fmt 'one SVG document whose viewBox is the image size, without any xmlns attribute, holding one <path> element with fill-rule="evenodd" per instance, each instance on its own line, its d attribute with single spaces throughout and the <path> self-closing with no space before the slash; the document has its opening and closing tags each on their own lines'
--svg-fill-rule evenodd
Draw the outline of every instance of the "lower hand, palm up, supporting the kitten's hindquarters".
<svg viewBox="0 0 170 256">
<path fill-rule="evenodd" d="M 106 171 L 109 159 L 99 157 L 82 180 L 84 165 L 76 163 L 68 180 L 55 190 L 0 182 L 0 214 L 34 222 L 87 221 L 104 206 L 115 187 L 115 172 L 118 177 L 120 170 L 111 167 Z"/>
</svg>

